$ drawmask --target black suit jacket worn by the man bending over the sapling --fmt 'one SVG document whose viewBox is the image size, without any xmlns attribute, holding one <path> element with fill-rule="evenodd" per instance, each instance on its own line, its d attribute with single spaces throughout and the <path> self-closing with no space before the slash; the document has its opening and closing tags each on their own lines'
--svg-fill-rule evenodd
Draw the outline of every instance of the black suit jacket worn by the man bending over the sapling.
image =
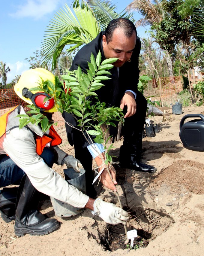
<svg viewBox="0 0 204 256">
<path fill-rule="evenodd" d="M 102 37 L 104 33 L 105 31 L 100 32 L 99 35 L 94 40 L 84 45 L 78 51 L 78 53 L 74 57 L 70 70 L 78 69 L 78 66 L 80 66 L 80 68 L 82 69 L 82 72 L 87 73 L 86 72 L 86 69 L 88 69 L 87 62 L 90 62 L 91 53 L 93 53 L 96 59 L 96 56 L 99 50 L 101 51 L 101 55 L 102 55 L 101 61 L 106 59 L 104 56 L 104 51 L 102 46 Z M 136 46 L 131 56 L 131 62 L 126 62 L 122 67 L 119 68 L 119 92 L 117 96 L 115 93 L 113 93 L 113 82 L 114 82 L 113 79 L 102 81 L 102 83 L 105 86 L 95 91 L 95 93 L 98 95 L 100 102 L 105 102 L 107 107 L 113 106 L 113 105 L 115 105 L 116 107 L 119 107 L 120 101 L 124 96 L 124 93 L 126 90 L 132 90 L 135 93 L 137 93 L 137 84 L 139 81 L 139 74 L 140 74 L 140 70 L 138 67 L 140 48 L 141 48 L 141 42 L 140 42 L 140 38 L 137 36 Z M 109 72 L 113 74 L 114 68 L 110 69 Z M 112 78 L 112 75 L 110 76 L 110 78 Z M 114 99 L 114 97 L 117 97 L 117 99 Z"/>
</svg>

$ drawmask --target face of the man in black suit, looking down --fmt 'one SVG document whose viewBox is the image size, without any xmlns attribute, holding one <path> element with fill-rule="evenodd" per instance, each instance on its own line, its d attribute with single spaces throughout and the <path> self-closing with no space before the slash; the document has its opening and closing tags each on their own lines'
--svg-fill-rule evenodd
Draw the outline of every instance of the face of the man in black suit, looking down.
<svg viewBox="0 0 204 256">
<path fill-rule="evenodd" d="M 133 53 L 136 44 L 136 33 L 134 32 L 131 37 L 124 35 L 123 29 L 118 28 L 113 32 L 112 41 L 107 44 L 106 36 L 103 35 L 103 49 L 106 59 L 119 58 L 113 65 L 120 68 L 127 62 Z"/>
</svg>

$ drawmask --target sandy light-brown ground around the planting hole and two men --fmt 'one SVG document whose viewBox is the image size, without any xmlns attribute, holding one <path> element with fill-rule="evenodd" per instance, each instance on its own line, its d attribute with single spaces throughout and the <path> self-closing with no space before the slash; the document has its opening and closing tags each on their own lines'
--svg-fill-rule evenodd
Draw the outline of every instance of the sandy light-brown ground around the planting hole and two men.
<svg viewBox="0 0 204 256">
<path fill-rule="evenodd" d="M 93 217 L 90 210 L 70 218 L 55 216 L 50 200 L 41 202 L 41 211 L 60 221 L 58 230 L 46 236 L 16 237 L 14 221 L 0 218 L 1 255 L 204 255 L 204 158 L 203 152 L 183 147 L 179 123 L 185 114 L 198 114 L 202 107 L 183 108 L 183 114 L 171 114 L 161 108 L 162 116 L 151 118 L 158 124 L 155 137 L 143 139 L 142 161 L 154 165 L 152 174 L 116 166 L 119 196 L 130 213 L 127 229 L 136 229 L 135 249 L 124 245 L 124 228 L 107 225 Z M 58 120 L 60 117 L 55 117 Z M 63 139 L 61 148 L 73 154 L 67 143 L 63 123 L 58 123 Z M 119 156 L 122 139 L 114 143 L 111 154 Z M 94 166 L 93 166 L 94 167 Z M 63 167 L 54 166 L 63 175 Z M 101 186 L 98 196 L 119 206 L 116 195 Z"/>
</svg>

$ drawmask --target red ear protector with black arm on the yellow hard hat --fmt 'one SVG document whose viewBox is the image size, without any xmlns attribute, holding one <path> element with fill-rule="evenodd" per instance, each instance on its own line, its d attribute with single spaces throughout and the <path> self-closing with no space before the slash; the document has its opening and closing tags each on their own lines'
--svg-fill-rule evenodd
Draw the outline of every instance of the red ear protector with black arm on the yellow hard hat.
<svg viewBox="0 0 204 256">
<path fill-rule="evenodd" d="M 49 110 L 53 108 L 53 106 L 55 105 L 54 99 L 51 98 L 47 93 L 41 92 L 33 94 L 26 87 L 22 89 L 22 96 L 24 96 L 27 99 L 30 99 L 33 105 L 35 105 L 37 108 L 40 108 L 41 111 Z M 44 102 L 44 99 L 46 97 L 49 97 L 50 99 Z"/>
</svg>

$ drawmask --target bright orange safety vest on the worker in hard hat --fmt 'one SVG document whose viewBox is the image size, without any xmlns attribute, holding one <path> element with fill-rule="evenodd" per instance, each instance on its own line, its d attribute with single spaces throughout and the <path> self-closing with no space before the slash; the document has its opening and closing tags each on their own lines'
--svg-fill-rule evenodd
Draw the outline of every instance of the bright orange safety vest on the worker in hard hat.
<svg viewBox="0 0 204 256">
<path fill-rule="evenodd" d="M 12 108 L 6 114 L 0 117 L 0 138 L 6 133 L 6 126 L 9 115 L 15 110 L 16 107 Z M 15 128 L 14 126 L 13 128 Z M 12 129 L 12 128 L 11 128 Z M 42 137 L 35 134 L 36 140 L 36 153 L 41 155 L 46 144 L 50 142 L 50 146 L 57 146 L 62 143 L 62 139 L 55 131 L 54 127 L 49 128 L 49 134 L 44 134 Z"/>
</svg>

